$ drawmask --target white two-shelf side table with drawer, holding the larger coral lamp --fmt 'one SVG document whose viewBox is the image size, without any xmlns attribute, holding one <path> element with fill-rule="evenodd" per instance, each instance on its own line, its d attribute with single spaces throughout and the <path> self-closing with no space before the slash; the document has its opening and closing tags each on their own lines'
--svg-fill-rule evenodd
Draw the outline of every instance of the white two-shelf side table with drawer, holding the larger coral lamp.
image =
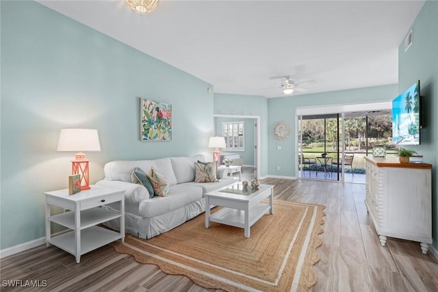
<svg viewBox="0 0 438 292">
<path fill-rule="evenodd" d="M 125 190 L 92 185 L 91 189 L 68 195 L 68 189 L 48 191 L 46 196 L 46 245 L 51 244 L 73 254 L 76 263 L 81 255 L 121 239 L 125 241 Z M 101 208 L 104 204 L 120 202 L 120 212 Z M 50 205 L 68 209 L 65 213 L 51 215 Z M 120 233 L 97 226 L 120 218 Z M 51 237 L 50 222 L 71 229 Z"/>
</svg>

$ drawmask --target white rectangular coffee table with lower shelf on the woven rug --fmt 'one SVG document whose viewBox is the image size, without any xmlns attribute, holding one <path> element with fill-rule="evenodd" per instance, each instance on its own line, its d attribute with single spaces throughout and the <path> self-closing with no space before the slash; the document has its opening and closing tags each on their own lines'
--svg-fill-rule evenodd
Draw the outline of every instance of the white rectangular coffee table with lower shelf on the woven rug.
<svg viewBox="0 0 438 292">
<path fill-rule="evenodd" d="M 269 197 L 269 204 L 261 202 Z M 267 211 L 274 213 L 273 207 L 274 186 L 260 185 L 253 190 L 251 186 L 244 191 L 242 183 L 237 182 L 227 187 L 221 187 L 205 194 L 205 228 L 210 222 L 217 222 L 229 226 L 244 228 L 245 237 L 250 237 L 250 227 L 257 222 Z M 224 207 L 214 214 L 210 213 L 210 206 Z"/>
</svg>

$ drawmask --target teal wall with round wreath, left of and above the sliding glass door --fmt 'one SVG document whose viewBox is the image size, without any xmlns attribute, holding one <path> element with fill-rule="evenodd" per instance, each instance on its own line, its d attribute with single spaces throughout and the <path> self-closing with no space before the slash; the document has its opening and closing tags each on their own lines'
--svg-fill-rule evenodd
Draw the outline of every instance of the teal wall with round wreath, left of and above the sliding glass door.
<svg viewBox="0 0 438 292">
<path fill-rule="evenodd" d="M 291 135 L 281 142 L 274 140 L 272 131 L 268 133 L 268 174 L 296 177 L 296 107 L 389 101 L 396 97 L 397 90 L 397 85 L 383 85 L 268 99 L 268 129 L 279 121 L 287 122 L 292 129 Z M 277 150 L 279 144 L 281 150 Z"/>
</svg>

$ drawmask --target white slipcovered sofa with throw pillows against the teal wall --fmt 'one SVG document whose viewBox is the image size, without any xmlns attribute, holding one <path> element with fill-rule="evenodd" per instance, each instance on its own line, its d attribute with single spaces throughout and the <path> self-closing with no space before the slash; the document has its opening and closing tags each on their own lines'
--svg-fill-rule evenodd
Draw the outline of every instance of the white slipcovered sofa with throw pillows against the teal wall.
<svg viewBox="0 0 438 292">
<path fill-rule="evenodd" d="M 125 228 L 141 238 L 151 238 L 175 228 L 205 211 L 204 194 L 207 191 L 230 185 L 234 178 L 222 178 L 215 183 L 195 183 L 194 163 L 205 161 L 203 155 L 194 157 L 167 157 L 153 160 L 110 161 L 105 164 L 105 178 L 96 185 L 125 189 Z M 132 183 L 131 174 L 137 167 L 149 172 L 156 168 L 166 176 L 169 184 L 167 196 L 149 197 L 142 185 Z M 120 204 L 109 204 L 118 209 Z M 120 230 L 120 220 L 105 225 Z"/>
</svg>

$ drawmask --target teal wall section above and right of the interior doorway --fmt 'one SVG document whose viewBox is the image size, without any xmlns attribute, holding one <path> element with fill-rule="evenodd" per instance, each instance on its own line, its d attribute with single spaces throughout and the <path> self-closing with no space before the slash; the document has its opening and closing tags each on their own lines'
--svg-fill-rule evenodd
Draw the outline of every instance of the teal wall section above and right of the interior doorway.
<svg viewBox="0 0 438 292">
<path fill-rule="evenodd" d="M 260 116 L 260 176 L 268 175 L 268 100 L 263 96 L 214 94 L 214 114 Z M 246 164 L 246 162 L 244 162 Z"/>
</svg>

